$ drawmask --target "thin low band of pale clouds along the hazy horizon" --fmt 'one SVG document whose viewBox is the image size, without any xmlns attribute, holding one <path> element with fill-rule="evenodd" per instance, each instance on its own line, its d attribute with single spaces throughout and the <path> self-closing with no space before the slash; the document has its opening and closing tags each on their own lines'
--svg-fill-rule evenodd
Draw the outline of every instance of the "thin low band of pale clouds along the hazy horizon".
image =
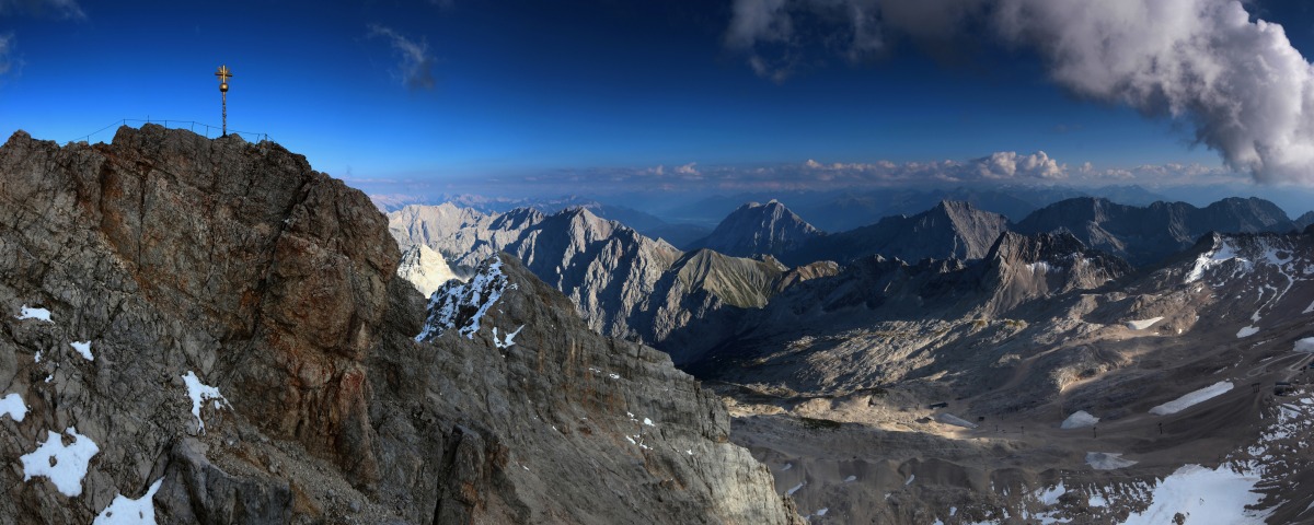
<svg viewBox="0 0 1314 525">
<path fill-rule="evenodd" d="M 824 163 L 808 159 L 802 163 L 756 167 L 689 163 L 646 168 L 565 168 L 527 176 L 452 177 L 442 182 L 423 177 L 346 180 L 367 189 L 376 198 L 405 197 L 406 202 L 430 202 L 434 196 L 452 193 L 556 197 L 564 186 L 587 188 L 590 196 L 600 197 L 627 193 L 829 192 L 996 184 L 1064 188 L 1223 186 L 1238 182 L 1242 177 L 1225 167 L 1201 164 L 1142 164 L 1097 169 L 1091 163 L 1076 167 L 1060 163 L 1043 151 L 1003 151 L 967 160 Z M 514 192 L 507 193 L 507 188 L 514 188 Z"/>
</svg>

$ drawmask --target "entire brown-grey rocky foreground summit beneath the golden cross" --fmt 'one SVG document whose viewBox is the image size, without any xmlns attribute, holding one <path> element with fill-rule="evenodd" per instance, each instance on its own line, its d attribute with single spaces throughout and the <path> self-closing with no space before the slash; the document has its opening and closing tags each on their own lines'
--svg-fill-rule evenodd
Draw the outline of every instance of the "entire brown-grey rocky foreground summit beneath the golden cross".
<svg viewBox="0 0 1314 525">
<path fill-rule="evenodd" d="M 369 200 L 275 143 L 17 133 L 0 202 L 3 522 L 799 520 L 665 354 L 507 255 L 426 312 Z"/>
</svg>

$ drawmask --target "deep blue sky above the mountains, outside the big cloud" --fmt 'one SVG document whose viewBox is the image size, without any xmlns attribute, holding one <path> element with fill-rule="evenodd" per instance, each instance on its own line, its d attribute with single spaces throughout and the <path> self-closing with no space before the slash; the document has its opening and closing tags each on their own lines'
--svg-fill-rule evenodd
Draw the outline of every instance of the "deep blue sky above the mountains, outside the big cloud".
<svg viewBox="0 0 1314 525">
<path fill-rule="evenodd" d="M 748 0 L 0 0 L 0 135 L 63 143 L 147 117 L 218 125 L 213 72 L 227 64 L 230 129 L 267 133 L 367 193 L 1248 188 L 1259 169 L 1221 154 L 1248 135 L 1200 140 L 1208 118 L 1063 80 L 1043 30 L 1007 37 L 967 16 L 928 37 L 882 13 L 879 46 L 862 47 L 844 9 L 783 1 L 745 45 L 732 28 Z M 884 7 L 829 4 L 850 3 Z M 1303 3 L 1242 5 L 1314 49 Z M 1285 136 L 1306 135 L 1272 140 Z M 1257 177 L 1310 185 L 1293 151 Z"/>
</svg>

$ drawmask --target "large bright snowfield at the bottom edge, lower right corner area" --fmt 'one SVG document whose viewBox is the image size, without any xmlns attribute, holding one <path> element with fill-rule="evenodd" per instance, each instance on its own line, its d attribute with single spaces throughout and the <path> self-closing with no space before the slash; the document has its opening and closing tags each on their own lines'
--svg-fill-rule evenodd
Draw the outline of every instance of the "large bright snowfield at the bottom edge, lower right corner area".
<svg viewBox="0 0 1314 525">
<path fill-rule="evenodd" d="M 1257 472 L 1236 472 L 1226 463 L 1215 470 L 1187 465 L 1154 488 L 1150 508 L 1127 516 L 1123 524 L 1171 524 L 1179 512 L 1189 516 L 1189 524 L 1263 524 L 1267 513 L 1246 511 L 1246 505 L 1255 505 L 1263 499 L 1251 492 L 1259 482 Z"/>
</svg>

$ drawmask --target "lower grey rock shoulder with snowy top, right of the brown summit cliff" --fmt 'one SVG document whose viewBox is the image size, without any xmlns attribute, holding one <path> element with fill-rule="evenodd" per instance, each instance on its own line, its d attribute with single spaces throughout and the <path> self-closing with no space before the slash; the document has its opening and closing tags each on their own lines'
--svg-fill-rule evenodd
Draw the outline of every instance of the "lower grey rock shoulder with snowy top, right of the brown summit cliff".
<svg viewBox="0 0 1314 525">
<path fill-rule="evenodd" d="M 711 391 L 677 371 L 661 352 L 590 332 L 560 293 L 515 259 L 491 259 L 466 284 L 444 287 L 430 312 L 419 339 L 427 341 L 424 350 L 449 356 L 440 364 L 449 370 L 397 370 L 411 377 L 390 387 L 410 391 L 438 382 L 434 402 L 453 410 L 481 407 L 476 410 L 487 416 L 478 421 L 480 430 L 461 430 L 463 446 L 470 436 L 478 441 L 449 459 L 468 474 L 453 483 L 451 500 L 440 501 L 440 517 L 790 520 L 766 469 L 727 444 L 729 417 Z M 552 461 L 523 463 L 548 457 Z M 478 500 L 468 496 L 466 483 Z M 570 490 L 561 490 L 562 483 Z M 528 508 L 514 504 L 530 497 L 541 500 Z M 699 516 L 698 509 L 707 513 Z"/>
</svg>

